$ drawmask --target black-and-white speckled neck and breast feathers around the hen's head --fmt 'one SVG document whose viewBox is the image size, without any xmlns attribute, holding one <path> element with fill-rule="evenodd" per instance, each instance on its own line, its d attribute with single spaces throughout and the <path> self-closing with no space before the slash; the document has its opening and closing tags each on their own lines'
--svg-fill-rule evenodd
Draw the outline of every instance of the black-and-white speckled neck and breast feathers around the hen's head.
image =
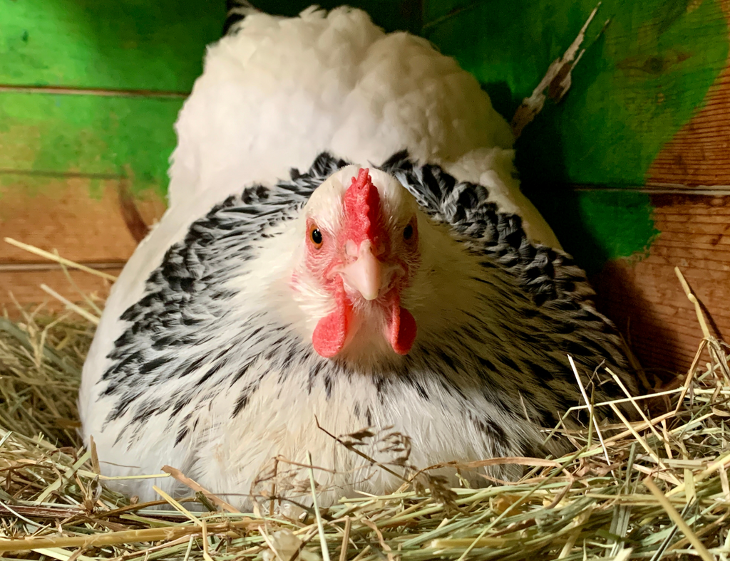
<svg viewBox="0 0 730 561">
<path fill-rule="evenodd" d="M 447 271 L 449 283 L 471 296 L 439 302 L 441 317 L 431 323 L 437 302 L 413 299 L 419 336 L 402 358 L 358 366 L 318 356 L 290 319 L 285 283 L 277 285 L 285 270 L 277 263 L 288 254 L 272 253 L 312 192 L 346 164 L 320 154 L 306 173 L 247 187 L 169 248 L 144 296 L 121 316 L 126 328 L 98 382 L 104 419 L 85 427 L 109 461 L 138 458 L 142 471 L 174 463 L 246 504 L 272 458 L 303 461 L 310 450 L 315 463 L 337 471 L 322 474 L 327 501 L 398 482 L 377 470 L 353 476 L 358 458 L 318 431 L 315 416 L 334 433 L 393 425 L 411 436 L 411 461 L 423 467 L 563 452 L 565 443 L 542 445 L 541 428 L 582 402 L 568 354 L 584 381 L 606 361 L 634 388 L 621 342 L 569 256 L 531 243 L 520 218 L 497 211 L 485 187 L 415 165 L 404 152 L 380 168 L 418 200 L 434 228 L 457 240 L 468 266 Z M 434 282 L 439 275 L 434 269 Z M 596 401 L 619 394 L 612 381 L 595 391 Z M 486 471 L 518 474 L 514 466 Z M 150 489 L 133 491 L 145 498 Z"/>
</svg>

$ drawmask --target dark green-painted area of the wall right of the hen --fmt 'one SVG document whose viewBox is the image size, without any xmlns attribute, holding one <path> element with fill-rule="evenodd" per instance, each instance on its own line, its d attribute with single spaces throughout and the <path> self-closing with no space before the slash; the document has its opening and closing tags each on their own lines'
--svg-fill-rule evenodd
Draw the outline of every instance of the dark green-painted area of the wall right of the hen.
<svg viewBox="0 0 730 561">
<path fill-rule="evenodd" d="M 423 35 L 475 74 L 509 119 L 596 4 L 515 0 L 495 9 L 489 1 L 426 0 Z M 559 104 L 548 101 L 516 149 L 526 195 L 566 249 L 597 272 L 648 248 L 656 235 L 650 201 L 561 186 L 643 184 L 726 66 L 728 25 L 718 1 L 604 0 L 583 46 L 571 90 Z"/>
</svg>

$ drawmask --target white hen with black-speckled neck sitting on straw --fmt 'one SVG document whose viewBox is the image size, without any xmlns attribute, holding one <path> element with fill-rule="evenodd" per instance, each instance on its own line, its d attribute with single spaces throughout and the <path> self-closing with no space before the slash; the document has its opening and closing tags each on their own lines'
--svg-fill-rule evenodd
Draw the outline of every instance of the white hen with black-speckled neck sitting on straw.
<svg viewBox="0 0 730 561">
<path fill-rule="evenodd" d="M 418 468 L 560 454 L 543 428 L 583 402 L 568 355 L 584 384 L 606 361 L 634 391 L 475 79 L 358 10 L 236 12 L 180 113 L 170 208 L 84 366 L 83 436 L 105 473 L 169 464 L 245 507 L 274 458 L 311 452 L 326 503 L 401 481 L 318 424 L 392 426 Z M 463 475 L 480 473 L 520 471 Z M 154 495 L 146 479 L 123 489 Z"/>
</svg>

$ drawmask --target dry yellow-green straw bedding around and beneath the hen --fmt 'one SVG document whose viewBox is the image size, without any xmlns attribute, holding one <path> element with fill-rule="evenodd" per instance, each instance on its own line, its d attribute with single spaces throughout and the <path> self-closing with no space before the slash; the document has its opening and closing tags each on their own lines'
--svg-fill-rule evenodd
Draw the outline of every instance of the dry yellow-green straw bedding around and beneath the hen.
<svg viewBox="0 0 730 561">
<path fill-rule="evenodd" d="M 96 313 L 93 303 L 82 310 L 85 319 L 77 311 L 26 312 L 20 321 L 0 317 L 0 557 L 730 556 L 730 373 L 723 343 L 706 328 L 694 366 L 678 387 L 632 400 L 639 422 L 626 421 L 612 432 L 598 427 L 591 411 L 615 405 L 591 404 L 588 395 L 585 429 L 569 433 L 575 452 L 496 460 L 523 464 L 518 482 L 449 490 L 421 474 L 392 495 L 343 499 L 327 509 L 315 504 L 288 519 L 269 511 L 266 501 L 258 511 L 239 512 L 169 467 L 150 475 L 180 479 L 191 487 L 189 498 L 175 501 L 160 493 L 159 501 L 142 504 L 108 490 L 94 450 L 85 450 L 75 432 L 80 370 Z M 702 321 L 699 311 L 698 317 Z M 647 409 L 649 401 L 653 407 Z M 314 489 L 316 468 L 301 469 Z"/>
</svg>

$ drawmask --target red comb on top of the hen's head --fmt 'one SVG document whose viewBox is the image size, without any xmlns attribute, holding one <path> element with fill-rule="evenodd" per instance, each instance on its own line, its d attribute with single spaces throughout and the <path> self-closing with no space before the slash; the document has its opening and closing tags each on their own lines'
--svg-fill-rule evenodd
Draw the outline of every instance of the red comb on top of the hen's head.
<svg viewBox="0 0 730 561">
<path fill-rule="evenodd" d="M 380 193 L 368 172 L 368 168 L 360 169 L 343 199 L 347 235 L 358 245 L 364 240 L 374 241 L 380 231 Z"/>
</svg>

